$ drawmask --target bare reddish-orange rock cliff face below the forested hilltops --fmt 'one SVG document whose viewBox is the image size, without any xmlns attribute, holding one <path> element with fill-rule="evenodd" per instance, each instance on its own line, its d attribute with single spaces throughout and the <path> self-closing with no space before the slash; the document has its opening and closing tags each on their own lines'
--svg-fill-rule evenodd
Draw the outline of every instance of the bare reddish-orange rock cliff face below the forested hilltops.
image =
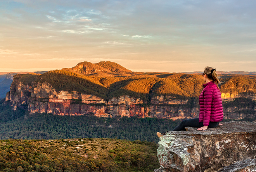
<svg viewBox="0 0 256 172">
<path fill-rule="evenodd" d="M 92 94 L 76 91 L 56 91 L 47 82 L 24 84 L 20 82 L 22 76 L 16 75 L 6 95 L 14 110 L 24 108 L 30 113 L 53 113 L 57 115 L 91 114 L 102 117 L 155 117 L 167 119 L 196 118 L 199 115 L 197 99 L 177 99 L 175 96 L 154 96 L 149 99 L 150 104 L 140 98 L 119 96 L 108 101 Z M 255 95 L 249 95 L 255 96 Z M 223 101 L 230 101 L 230 98 Z M 249 107 L 246 107 L 248 110 Z M 251 111 L 255 111 L 251 108 Z M 236 106 L 224 107 L 226 119 L 253 117 L 254 113 L 243 114 Z"/>
</svg>

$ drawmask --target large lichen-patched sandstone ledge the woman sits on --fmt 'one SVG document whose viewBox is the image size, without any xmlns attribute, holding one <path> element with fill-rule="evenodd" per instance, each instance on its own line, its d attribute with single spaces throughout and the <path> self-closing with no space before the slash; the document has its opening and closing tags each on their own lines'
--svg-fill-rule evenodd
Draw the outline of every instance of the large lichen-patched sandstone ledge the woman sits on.
<svg viewBox="0 0 256 172">
<path fill-rule="evenodd" d="M 256 123 L 223 122 L 198 131 L 168 132 L 160 137 L 160 172 L 216 172 L 234 162 L 256 158 Z"/>
</svg>

